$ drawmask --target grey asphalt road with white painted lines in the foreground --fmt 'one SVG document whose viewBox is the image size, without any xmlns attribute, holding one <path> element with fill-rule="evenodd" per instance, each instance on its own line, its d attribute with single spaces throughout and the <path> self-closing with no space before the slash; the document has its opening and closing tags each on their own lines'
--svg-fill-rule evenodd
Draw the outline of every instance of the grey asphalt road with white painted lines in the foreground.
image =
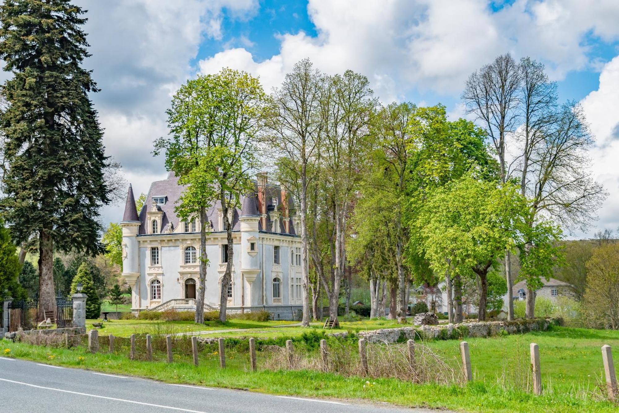
<svg viewBox="0 0 619 413">
<path fill-rule="evenodd" d="M 1 410 L 13 413 L 431 412 L 426 409 L 166 384 L 6 357 L 0 357 L 0 394 Z"/>
</svg>

